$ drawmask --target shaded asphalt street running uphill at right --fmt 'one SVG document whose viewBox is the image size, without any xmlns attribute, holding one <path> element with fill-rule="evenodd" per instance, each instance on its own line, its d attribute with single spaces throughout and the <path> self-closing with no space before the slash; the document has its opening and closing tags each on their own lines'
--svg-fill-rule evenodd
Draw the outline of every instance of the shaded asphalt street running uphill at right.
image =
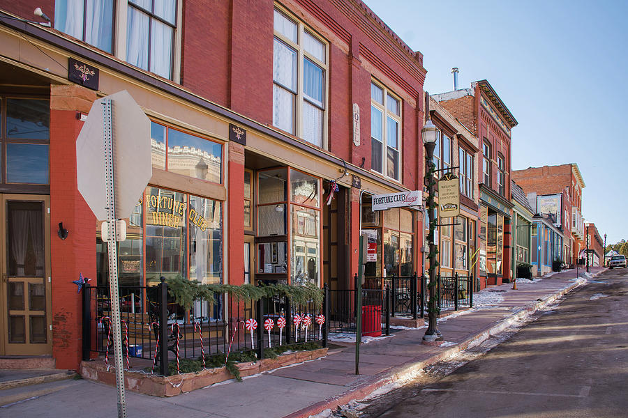
<svg viewBox="0 0 628 418">
<path fill-rule="evenodd" d="M 442 364 L 361 416 L 628 417 L 627 291 L 628 269 L 609 270 L 454 372 L 442 376 Z"/>
</svg>

